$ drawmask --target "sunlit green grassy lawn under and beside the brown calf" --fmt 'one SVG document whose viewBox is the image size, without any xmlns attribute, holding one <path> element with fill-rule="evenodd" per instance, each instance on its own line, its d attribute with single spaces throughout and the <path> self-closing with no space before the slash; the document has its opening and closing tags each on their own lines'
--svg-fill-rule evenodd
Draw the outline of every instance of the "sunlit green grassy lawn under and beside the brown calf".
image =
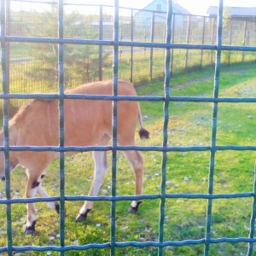
<svg viewBox="0 0 256 256">
<path fill-rule="evenodd" d="M 172 96 L 212 96 L 213 70 L 174 77 L 171 81 Z M 221 71 L 219 96 L 255 97 L 255 66 L 224 67 Z M 163 96 L 163 81 L 137 87 L 138 95 Z M 148 141 L 138 145 L 161 146 L 163 140 L 163 103 L 141 102 L 147 115 L 145 126 L 150 131 Z M 168 127 L 169 146 L 209 146 L 212 134 L 212 103 L 170 102 Z M 254 122 L 256 106 L 253 103 L 218 104 L 218 145 L 255 145 Z M 144 194 L 160 194 L 160 152 L 143 152 L 145 160 Z M 170 152 L 167 154 L 166 193 L 205 193 L 208 190 L 210 152 Z M 108 154 L 111 166 L 111 154 Z M 241 193 L 253 191 L 255 152 L 218 151 L 215 157 L 213 193 Z M 59 195 L 59 162 L 49 166 L 44 188 L 49 195 Z M 87 195 L 93 177 L 91 153 L 66 157 L 66 195 Z M 13 197 L 23 197 L 26 183 L 25 169 L 16 168 L 11 176 Z M 111 195 L 111 173 L 108 172 L 99 195 L 108 190 Z M 117 162 L 117 194 L 133 195 L 134 177 L 123 154 Z M 0 193 L 5 197 L 4 183 Z M 247 237 L 252 212 L 252 198 L 218 199 L 212 202 L 211 237 Z M 110 239 L 110 202 L 96 202 L 83 223 L 74 219 L 82 201 L 67 201 L 66 245 L 103 243 Z M 160 200 L 144 200 L 137 214 L 127 214 L 129 201 L 116 204 L 116 241 L 158 241 Z M 26 223 L 26 205 L 12 206 L 13 243 L 15 246 L 59 245 L 59 217 L 49 211 L 45 203 L 36 204 L 37 231 L 34 236 L 23 236 Z M 0 247 L 6 245 L 5 206 L 0 205 Z M 207 200 L 166 199 L 164 226 L 165 241 L 201 239 L 206 231 Z M 202 255 L 204 245 L 166 247 L 164 255 Z M 116 255 L 157 255 L 155 247 L 116 248 Z M 67 252 L 66 255 L 108 255 L 109 248 L 89 249 L 84 252 Z M 217 243 L 210 246 L 210 255 L 246 255 L 246 243 Z M 4 253 L 3 253 L 4 255 Z M 46 255 L 26 252 L 25 255 Z M 52 252 L 47 255 L 58 255 Z"/>
</svg>

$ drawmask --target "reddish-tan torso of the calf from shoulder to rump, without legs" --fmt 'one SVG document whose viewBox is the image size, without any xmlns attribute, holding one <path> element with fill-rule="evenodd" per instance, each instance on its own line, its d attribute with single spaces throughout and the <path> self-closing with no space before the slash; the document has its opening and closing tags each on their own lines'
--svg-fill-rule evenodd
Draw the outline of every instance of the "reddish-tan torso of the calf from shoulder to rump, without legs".
<svg viewBox="0 0 256 256">
<path fill-rule="evenodd" d="M 84 84 L 67 94 L 112 95 L 113 82 L 104 81 Z M 119 81 L 118 94 L 135 96 L 133 84 Z M 16 114 L 13 122 L 19 127 L 20 145 L 58 145 L 58 100 L 34 100 Z M 112 134 L 112 101 L 65 99 L 64 133 L 65 145 L 95 145 L 103 134 Z M 138 117 L 138 104 L 131 101 L 118 102 L 118 134 L 134 137 Z M 122 144 L 125 142 L 121 142 Z"/>
</svg>

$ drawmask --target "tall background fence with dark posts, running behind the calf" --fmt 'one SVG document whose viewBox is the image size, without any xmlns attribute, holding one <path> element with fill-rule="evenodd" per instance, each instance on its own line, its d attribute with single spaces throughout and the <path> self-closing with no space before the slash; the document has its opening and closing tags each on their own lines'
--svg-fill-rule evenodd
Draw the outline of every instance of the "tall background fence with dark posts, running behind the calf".
<svg viewBox="0 0 256 256">
<path fill-rule="evenodd" d="M 16 1 L 8 3 L 7 35 L 11 37 L 57 37 L 57 3 Z M 113 7 L 64 3 L 64 37 L 108 41 L 113 38 Z M 139 9 L 119 9 L 119 41 L 165 43 L 166 13 Z M 195 15 L 172 16 L 172 44 L 216 42 L 217 18 Z M 248 20 L 224 20 L 224 45 L 250 46 L 256 43 L 256 25 Z M 55 44 L 7 44 L 10 92 L 49 92 L 58 87 L 57 46 Z M 119 47 L 119 77 L 135 84 L 164 77 L 159 47 Z M 212 49 L 172 49 L 172 76 L 213 67 Z M 253 52 L 224 51 L 226 65 L 256 61 Z M 65 86 L 111 79 L 112 47 L 93 44 L 65 44 Z M 83 72 L 81 72 L 83 71 Z M 15 104 L 17 105 L 17 103 Z M 18 104 L 19 105 L 19 104 Z"/>
</svg>

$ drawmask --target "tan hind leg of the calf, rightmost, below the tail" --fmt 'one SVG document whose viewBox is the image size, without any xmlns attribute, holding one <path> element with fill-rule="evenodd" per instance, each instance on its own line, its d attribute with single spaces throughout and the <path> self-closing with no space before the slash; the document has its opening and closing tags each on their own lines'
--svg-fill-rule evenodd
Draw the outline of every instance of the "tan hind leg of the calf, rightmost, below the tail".
<svg viewBox="0 0 256 256">
<path fill-rule="evenodd" d="M 124 151 L 124 154 L 135 174 L 135 195 L 143 195 L 143 156 L 136 150 Z M 142 201 L 132 201 L 128 212 L 137 212 L 140 203 Z"/>
</svg>

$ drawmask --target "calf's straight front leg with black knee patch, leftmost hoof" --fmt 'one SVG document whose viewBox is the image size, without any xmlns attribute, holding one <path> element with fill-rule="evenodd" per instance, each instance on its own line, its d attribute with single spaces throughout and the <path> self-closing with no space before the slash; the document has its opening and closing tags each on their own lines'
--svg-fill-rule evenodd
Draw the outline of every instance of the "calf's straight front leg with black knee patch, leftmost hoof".
<svg viewBox="0 0 256 256">
<path fill-rule="evenodd" d="M 28 172 L 27 172 L 28 173 Z M 26 183 L 26 198 L 35 197 L 38 191 L 38 186 L 41 182 L 41 177 L 34 177 L 28 174 L 28 180 Z M 37 215 L 34 207 L 34 203 L 27 204 L 27 219 L 26 230 L 24 235 L 32 235 L 35 232 L 37 223 Z"/>
</svg>

